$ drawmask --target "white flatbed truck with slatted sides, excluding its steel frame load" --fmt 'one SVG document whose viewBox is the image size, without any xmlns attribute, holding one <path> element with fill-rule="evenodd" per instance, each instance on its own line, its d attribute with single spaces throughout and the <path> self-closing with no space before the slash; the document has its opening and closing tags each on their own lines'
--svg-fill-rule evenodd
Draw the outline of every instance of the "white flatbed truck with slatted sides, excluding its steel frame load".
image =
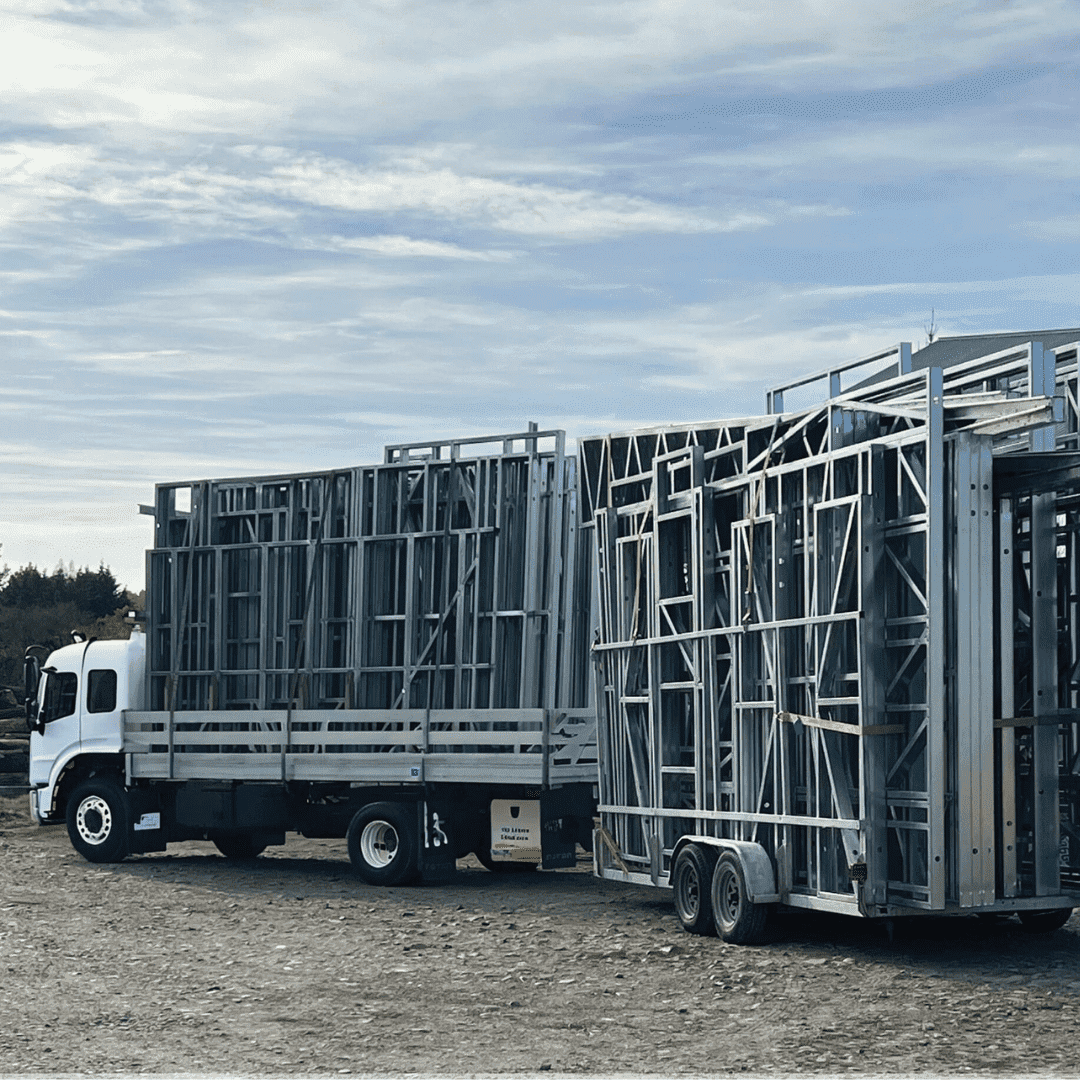
<svg viewBox="0 0 1080 1080">
<path fill-rule="evenodd" d="M 138 629 L 126 642 L 56 649 L 36 688 L 35 670 L 31 661 L 31 814 L 66 821 L 91 862 L 191 839 L 253 859 L 298 832 L 348 837 L 364 880 L 401 885 L 442 880 L 470 851 L 489 868 L 517 869 L 572 865 L 577 843 L 591 845 L 596 766 L 584 712 L 170 716 L 145 710 Z"/>
</svg>

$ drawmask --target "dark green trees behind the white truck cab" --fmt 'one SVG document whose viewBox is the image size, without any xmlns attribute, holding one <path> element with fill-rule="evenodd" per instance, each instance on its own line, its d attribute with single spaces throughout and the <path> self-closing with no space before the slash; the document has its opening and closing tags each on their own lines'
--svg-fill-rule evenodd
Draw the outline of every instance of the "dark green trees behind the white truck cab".
<svg viewBox="0 0 1080 1080">
<path fill-rule="evenodd" d="M 51 573 L 32 563 L 17 570 L 0 566 L 0 687 L 22 700 L 28 645 L 69 645 L 72 631 L 87 638 L 127 637 L 124 615 L 140 600 L 104 563 L 96 570 L 62 565 Z"/>
</svg>

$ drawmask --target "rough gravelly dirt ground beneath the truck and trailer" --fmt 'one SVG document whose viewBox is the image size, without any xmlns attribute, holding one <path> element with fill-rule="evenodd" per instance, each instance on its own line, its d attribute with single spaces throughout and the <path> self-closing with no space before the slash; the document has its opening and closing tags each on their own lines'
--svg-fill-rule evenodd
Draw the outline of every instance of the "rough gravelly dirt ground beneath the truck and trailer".
<svg viewBox="0 0 1080 1080">
<path fill-rule="evenodd" d="M 343 841 L 94 866 L 0 798 L 0 1075 L 1047 1075 L 1080 1071 L 1080 917 L 769 944 L 683 933 L 577 870 L 374 889 Z"/>
</svg>

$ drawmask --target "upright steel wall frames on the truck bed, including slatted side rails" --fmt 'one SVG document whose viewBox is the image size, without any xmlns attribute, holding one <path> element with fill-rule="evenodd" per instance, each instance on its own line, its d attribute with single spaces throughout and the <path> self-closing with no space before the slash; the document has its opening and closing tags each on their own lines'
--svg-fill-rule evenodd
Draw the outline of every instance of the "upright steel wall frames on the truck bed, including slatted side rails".
<svg viewBox="0 0 1080 1080">
<path fill-rule="evenodd" d="M 393 754 L 395 778 L 410 755 L 469 752 L 519 777 L 510 755 L 531 753 L 545 780 L 552 762 L 592 780 L 592 567 L 564 445 L 532 426 L 389 446 L 377 465 L 159 485 L 148 707 L 185 714 L 167 774 L 177 753 L 214 775 L 212 755 L 284 745 Z M 131 746 L 163 752 L 141 718 Z"/>
</svg>

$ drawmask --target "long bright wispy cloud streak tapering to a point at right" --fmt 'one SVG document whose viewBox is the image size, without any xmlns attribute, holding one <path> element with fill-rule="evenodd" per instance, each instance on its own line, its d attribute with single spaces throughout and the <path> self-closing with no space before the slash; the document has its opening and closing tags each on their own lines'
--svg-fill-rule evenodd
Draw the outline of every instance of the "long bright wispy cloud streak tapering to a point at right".
<svg viewBox="0 0 1080 1080">
<path fill-rule="evenodd" d="M 306 237 L 302 217 L 316 210 L 359 216 L 410 214 L 518 237 L 573 242 L 640 232 L 737 232 L 793 217 L 847 213 L 827 205 L 788 205 L 777 199 L 720 211 L 688 208 L 639 195 L 519 183 L 448 167 L 363 167 L 319 154 L 289 154 L 281 148 L 253 152 L 245 147 L 241 162 L 234 172 L 204 162 L 176 168 L 161 163 L 139 166 L 118 164 L 108 151 L 85 146 L 10 144 L 0 148 L 0 190 L 10 195 L 8 225 L 12 228 L 25 229 L 28 219 L 38 224 L 42 217 L 58 219 L 65 205 L 96 205 L 100 212 L 122 212 L 132 221 L 158 222 L 164 229 L 158 243 L 167 243 L 181 229 L 188 240 L 266 235 L 270 230 L 272 237 L 301 247 L 320 245 L 318 239 Z M 105 254 L 120 249 L 118 243 Z M 131 241 L 130 246 L 147 243 Z M 330 246 L 481 261 L 509 257 L 508 253 L 396 234 L 335 239 Z"/>
</svg>

